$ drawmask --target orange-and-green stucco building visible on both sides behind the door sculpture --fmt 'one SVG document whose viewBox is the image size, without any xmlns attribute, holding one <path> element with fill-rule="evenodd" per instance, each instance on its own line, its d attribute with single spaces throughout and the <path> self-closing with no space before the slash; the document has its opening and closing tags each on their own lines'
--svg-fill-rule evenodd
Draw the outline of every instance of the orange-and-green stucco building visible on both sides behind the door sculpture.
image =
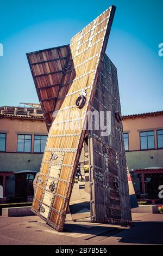
<svg viewBox="0 0 163 256">
<path fill-rule="evenodd" d="M 1 201 L 30 201 L 47 128 L 39 104 L 0 108 Z M 163 184 L 163 111 L 123 116 L 124 145 L 137 197 L 157 199 Z"/>
</svg>

